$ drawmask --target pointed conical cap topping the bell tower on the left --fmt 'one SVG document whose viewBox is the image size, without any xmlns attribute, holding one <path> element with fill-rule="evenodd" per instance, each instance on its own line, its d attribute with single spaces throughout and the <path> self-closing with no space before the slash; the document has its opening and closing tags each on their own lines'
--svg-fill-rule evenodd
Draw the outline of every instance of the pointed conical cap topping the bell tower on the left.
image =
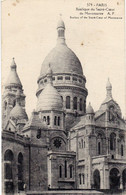
<svg viewBox="0 0 126 195">
<path fill-rule="evenodd" d="M 16 63 L 15 63 L 14 58 L 13 58 L 13 61 L 11 64 L 10 74 L 8 76 L 7 82 L 5 83 L 5 86 L 18 85 L 18 86 L 22 87 L 22 84 L 21 84 L 21 81 L 20 81 L 19 76 L 17 74 L 16 68 L 17 68 L 17 66 L 16 66 Z"/>
</svg>

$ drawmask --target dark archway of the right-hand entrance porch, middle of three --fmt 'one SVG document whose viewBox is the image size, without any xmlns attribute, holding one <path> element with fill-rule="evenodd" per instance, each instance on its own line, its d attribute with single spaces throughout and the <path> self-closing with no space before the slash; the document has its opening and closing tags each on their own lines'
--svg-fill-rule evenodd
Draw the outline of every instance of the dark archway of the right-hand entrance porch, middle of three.
<svg viewBox="0 0 126 195">
<path fill-rule="evenodd" d="M 109 175 L 110 189 L 119 189 L 120 187 L 120 173 L 117 168 L 113 168 Z"/>
</svg>

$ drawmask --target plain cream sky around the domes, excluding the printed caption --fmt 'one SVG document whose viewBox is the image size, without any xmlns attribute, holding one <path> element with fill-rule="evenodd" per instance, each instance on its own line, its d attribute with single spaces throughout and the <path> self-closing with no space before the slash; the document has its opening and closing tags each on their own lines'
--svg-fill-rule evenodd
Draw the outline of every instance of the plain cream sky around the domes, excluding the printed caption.
<svg viewBox="0 0 126 195">
<path fill-rule="evenodd" d="M 79 58 L 86 76 L 87 105 L 97 111 L 106 97 L 108 77 L 114 100 L 126 116 L 126 68 L 124 61 L 124 1 L 109 2 L 115 15 L 123 19 L 71 19 L 76 8 L 100 0 L 5 0 L 2 2 L 2 85 L 6 82 L 12 58 L 26 95 L 30 117 L 36 108 L 37 79 L 47 54 L 56 45 L 56 26 L 62 14 L 66 43 Z"/>
</svg>

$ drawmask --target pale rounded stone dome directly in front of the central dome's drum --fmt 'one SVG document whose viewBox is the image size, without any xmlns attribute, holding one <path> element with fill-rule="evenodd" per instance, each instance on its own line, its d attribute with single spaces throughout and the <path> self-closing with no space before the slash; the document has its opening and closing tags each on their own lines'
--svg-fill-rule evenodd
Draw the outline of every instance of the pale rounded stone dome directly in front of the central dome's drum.
<svg viewBox="0 0 126 195">
<path fill-rule="evenodd" d="M 48 83 L 38 97 L 37 111 L 41 110 L 61 110 L 62 99 L 55 87 Z"/>
</svg>

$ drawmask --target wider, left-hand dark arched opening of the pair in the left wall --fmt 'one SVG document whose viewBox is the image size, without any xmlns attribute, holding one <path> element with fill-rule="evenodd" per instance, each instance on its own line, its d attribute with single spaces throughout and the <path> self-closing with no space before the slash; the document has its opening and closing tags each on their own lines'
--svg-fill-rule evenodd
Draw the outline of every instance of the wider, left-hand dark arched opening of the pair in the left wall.
<svg viewBox="0 0 126 195">
<path fill-rule="evenodd" d="M 6 181 L 5 184 L 5 192 L 8 194 L 13 194 L 14 186 L 13 186 L 13 152 L 11 150 L 7 150 L 4 154 L 4 178 Z M 11 180 L 11 181 L 10 181 Z"/>
</svg>

